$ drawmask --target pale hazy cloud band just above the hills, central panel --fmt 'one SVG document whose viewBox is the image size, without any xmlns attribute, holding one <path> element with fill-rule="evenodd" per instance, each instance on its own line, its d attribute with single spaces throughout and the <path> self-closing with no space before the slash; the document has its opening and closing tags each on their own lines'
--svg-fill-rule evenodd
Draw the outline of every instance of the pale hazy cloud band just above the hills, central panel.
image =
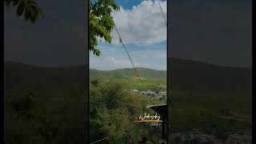
<svg viewBox="0 0 256 144">
<path fill-rule="evenodd" d="M 100 57 L 90 54 L 90 68 L 114 70 L 132 68 L 129 58 L 120 48 L 102 46 Z M 155 70 L 166 70 L 166 50 L 130 50 L 130 57 L 135 67 L 146 67 Z"/>
</svg>

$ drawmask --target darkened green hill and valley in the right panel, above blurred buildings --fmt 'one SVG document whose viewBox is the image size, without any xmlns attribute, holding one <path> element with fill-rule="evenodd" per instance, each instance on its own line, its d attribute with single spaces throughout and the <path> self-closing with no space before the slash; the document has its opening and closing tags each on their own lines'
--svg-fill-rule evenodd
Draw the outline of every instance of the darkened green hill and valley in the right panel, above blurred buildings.
<svg viewBox="0 0 256 144">
<path fill-rule="evenodd" d="M 169 59 L 169 130 L 198 128 L 218 138 L 251 130 L 251 69 Z"/>
</svg>

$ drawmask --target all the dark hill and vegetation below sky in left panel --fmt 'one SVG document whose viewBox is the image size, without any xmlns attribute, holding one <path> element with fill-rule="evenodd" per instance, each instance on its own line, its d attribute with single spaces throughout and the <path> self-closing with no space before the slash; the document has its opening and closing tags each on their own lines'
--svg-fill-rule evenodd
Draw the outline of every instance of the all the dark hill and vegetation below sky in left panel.
<svg viewBox="0 0 256 144">
<path fill-rule="evenodd" d="M 6 144 L 85 142 L 84 69 L 16 62 L 4 68 Z"/>
</svg>

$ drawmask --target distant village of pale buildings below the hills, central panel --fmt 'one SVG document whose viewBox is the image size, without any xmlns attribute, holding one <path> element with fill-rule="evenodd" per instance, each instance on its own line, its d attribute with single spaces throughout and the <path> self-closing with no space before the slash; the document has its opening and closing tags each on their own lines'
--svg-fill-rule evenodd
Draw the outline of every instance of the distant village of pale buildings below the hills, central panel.
<svg viewBox="0 0 256 144">
<path fill-rule="evenodd" d="M 158 98 L 158 99 L 166 99 L 166 91 L 154 92 L 152 90 L 140 91 L 140 90 L 130 90 L 133 93 L 138 94 L 146 94 L 148 98 Z"/>
</svg>

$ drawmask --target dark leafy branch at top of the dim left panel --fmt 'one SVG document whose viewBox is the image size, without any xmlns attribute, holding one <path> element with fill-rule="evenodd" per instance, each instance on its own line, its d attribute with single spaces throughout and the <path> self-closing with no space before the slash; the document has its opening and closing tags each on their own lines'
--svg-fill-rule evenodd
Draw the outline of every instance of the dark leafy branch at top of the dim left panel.
<svg viewBox="0 0 256 144">
<path fill-rule="evenodd" d="M 17 6 L 16 14 L 18 17 L 24 15 L 25 20 L 34 24 L 39 17 L 43 17 L 42 9 L 38 6 L 36 0 L 4 0 L 7 7 Z"/>
</svg>

